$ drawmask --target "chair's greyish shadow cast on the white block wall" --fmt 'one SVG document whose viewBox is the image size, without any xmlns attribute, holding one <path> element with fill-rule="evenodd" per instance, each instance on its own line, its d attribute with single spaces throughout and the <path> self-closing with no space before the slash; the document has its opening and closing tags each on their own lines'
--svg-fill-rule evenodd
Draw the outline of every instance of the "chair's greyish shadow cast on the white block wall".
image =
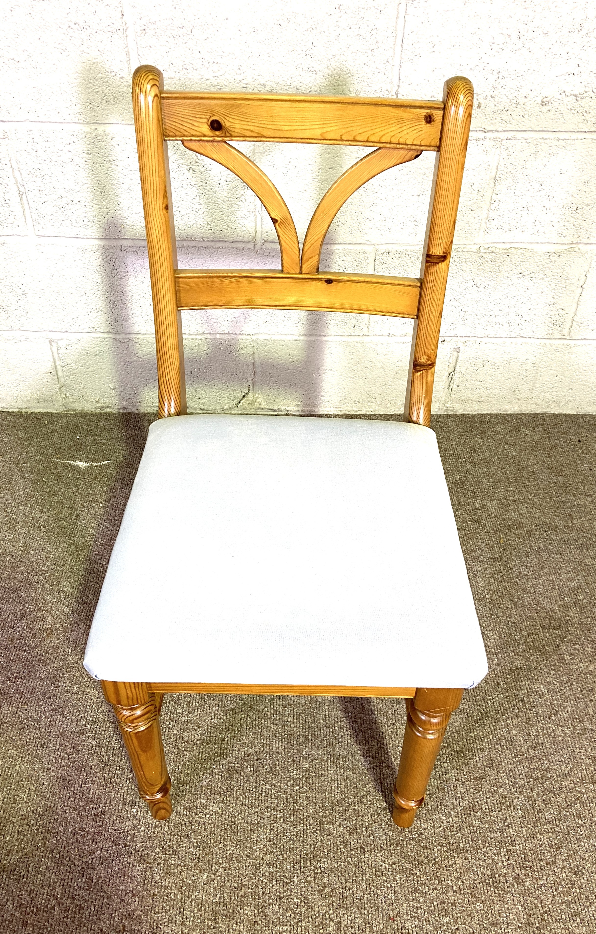
<svg viewBox="0 0 596 934">
<path fill-rule="evenodd" d="M 112 96 L 111 90 L 114 96 L 118 90 L 114 79 L 109 76 L 104 66 L 95 62 L 85 65 L 80 85 L 82 101 L 89 99 L 90 88 L 105 87 L 106 102 Z M 348 94 L 350 91 L 349 76 L 339 73 L 331 74 L 320 88 L 322 93 Z M 85 117 L 90 123 L 97 121 L 96 113 L 89 112 Z M 101 121 L 109 124 L 110 120 L 114 120 L 114 115 L 106 104 Z M 130 220 L 123 216 L 120 201 L 121 178 L 118 177 L 120 170 L 117 168 L 115 145 L 113 138 L 104 130 L 95 132 L 90 129 L 87 135 L 89 188 L 95 202 L 95 215 L 101 219 L 98 234 L 107 240 L 126 235 L 119 232 L 130 231 Z M 263 156 L 263 147 L 271 149 L 275 145 L 256 144 L 250 155 L 259 162 Z M 175 152 L 174 147 L 182 150 L 181 144 L 170 144 L 172 153 Z M 277 147 L 282 151 L 284 149 L 283 144 L 277 144 Z M 349 147 L 319 146 L 316 149 L 314 193 L 318 200 L 328 187 L 329 179 L 333 180 L 341 175 L 348 164 L 354 161 L 355 153 Z M 177 191 L 173 198 L 175 219 L 178 213 L 183 216 L 183 221 L 178 225 L 178 230 L 182 228 L 183 233 L 178 247 L 180 266 L 210 265 L 210 262 L 204 262 L 196 254 L 202 245 L 212 245 L 215 238 L 220 251 L 217 265 L 230 268 L 247 265 L 279 268 L 277 243 L 274 245 L 263 242 L 263 237 L 260 236 L 262 225 L 265 229 L 266 225 L 269 225 L 271 232 L 273 225 L 256 199 L 253 200 L 255 224 L 252 239 L 242 242 L 242 233 L 238 238 L 234 236 L 236 229 L 244 231 L 244 235 L 247 231 L 246 214 L 244 217 L 241 215 L 237 199 L 232 196 L 234 184 L 244 189 L 243 183 L 237 182 L 234 175 L 215 163 L 187 150 L 182 150 L 181 153 L 177 151 L 174 162 L 176 172 L 173 174 L 176 174 L 177 179 L 180 169 L 189 170 L 181 183 L 188 198 L 177 198 Z M 135 170 L 136 165 L 134 173 Z M 218 183 L 216 196 L 204 197 L 204 192 L 210 188 L 212 190 L 214 179 Z M 282 183 L 280 188 L 284 194 Z M 197 191 L 201 192 L 201 197 L 195 202 L 198 218 L 195 219 L 189 204 L 192 205 L 192 198 L 196 198 Z M 140 202 L 140 191 L 138 197 Z M 222 232 L 224 239 L 220 239 Z M 304 234 L 304 231 L 301 233 Z M 135 234 L 135 237 L 138 237 L 138 234 Z M 104 307 L 101 315 L 106 324 L 102 331 L 113 336 L 106 336 L 101 341 L 90 339 L 90 345 L 85 351 L 90 359 L 79 361 L 81 371 L 85 367 L 88 370 L 93 367 L 93 358 L 97 361 L 97 370 L 110 384 L 109 387 L 106 386 L 106 401 L 110 400 L 106 402 L 106 407 L 117 407 L 121 411 L 150 410 L 153 406 L 157 407 L 155 347 L 152 335 L 148 335 L 149 315 L 147 323 L 140 326 L 141 333 L 139 321 L 133 319 L 135 313 L 131 312 L 134 303 L 130 293 L 130 262 L 133 255 L 138 261 L 141 252 L 144 254 L 145 250 L 141 250 L 138 245 L 125 243 L 109 247 L 106 245 L 103 248 L 101 280 Z M 149 293 L 149 272 L 146 275 Z M 148 298 L 147 304 L 149 302 Z M 187 312 L 183 315 L 190 411 L 273 410 L 317 414 L 325 410 L 323 383 L 327 362 L 325 352 L 328 346 L 325 341 L 325 316 L 319 312 L 305 313 L 302 318 L 305 323 L 288 334 L 291 340 L 276 340 L 277 334 L 286 330 L 283 327 L 277 329 L 276 320 L 281 324 L 283 319 L 276 316 L 289 313 L 204 311 L 200 316 L 201 320 L 206 322 L 205 331 L 192 333 L 194 314 Z M 259 318 L 263 319 L 263 316 L 266 321 L 264 332 L 270 337 L 273 335 L 274 338 L 267 340 L 264 345 L 259 342 L 259 335 L 263 333 Z M 232 328 L 229 326 L 230 320 L 233 323 Z M 103 355 L 102 351 L 94 350 L 95 345 L 102 348 Z M 260 353 L 261 359 L 258 359 Z M 69 369 L 77 373 L 78 368 L 75 364 Z M 90 382 L 92 383 L 91 377 Z M 263 389 L 263 394 L 260 388 Z M 100 395 L 103 394 L 101 386 L 99 390 Z M 67 395 L 64 402 L 68 406 Z M 401 403 L 401 399 L 396 400 L 396 409 L 401 408 Z M 85 407 L 84 401 L 82 405 Z"/>
</svg>

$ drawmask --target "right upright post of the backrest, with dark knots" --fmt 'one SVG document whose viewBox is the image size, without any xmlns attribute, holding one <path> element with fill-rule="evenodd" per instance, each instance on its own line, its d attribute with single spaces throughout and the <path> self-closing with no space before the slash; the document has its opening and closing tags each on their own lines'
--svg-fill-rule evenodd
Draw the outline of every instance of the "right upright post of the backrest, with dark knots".
<svg viewBox="0 0 596 934">
<path fill-rule="evenodd" d="M 419 317 L 412 338 L 404 412 L 406 421 L 426 426 L 431 424 L 434 367 L 472 120 L 472 83 L 467 78 L 449 78 L 445 85 L 444 100 L 440 150 L 435 163 L 431 211 L 420 274 Z"/>
</svg>

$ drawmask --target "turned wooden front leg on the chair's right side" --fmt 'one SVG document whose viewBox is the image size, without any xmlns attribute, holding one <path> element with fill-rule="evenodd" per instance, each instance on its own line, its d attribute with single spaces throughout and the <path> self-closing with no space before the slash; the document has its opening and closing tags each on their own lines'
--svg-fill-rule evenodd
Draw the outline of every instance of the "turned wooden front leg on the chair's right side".
<svg viewBox="0 0 596 934">
<path fill-rule="evenodd" d="M 398 827 L 414 823 L 449 717 L 459 707 L 462 694 L 459 688 L 419 687 L 414 698 L 405 701 L 407 723 L 393 789 L 393 820 Z"/>
</svg>

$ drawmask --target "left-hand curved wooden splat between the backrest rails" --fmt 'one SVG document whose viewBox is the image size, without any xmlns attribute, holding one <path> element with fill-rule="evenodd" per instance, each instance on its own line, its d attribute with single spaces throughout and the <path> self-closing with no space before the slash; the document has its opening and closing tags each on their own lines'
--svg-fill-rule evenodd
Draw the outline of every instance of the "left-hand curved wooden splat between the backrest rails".
<svg viewBox="0 0 596 934">
<path fill-rule="evenodd" d="M 298 244 L 298 234 L 291 219 L 288 205 L 286 205 L 271 179 L 261 171 L 258 165 L 248 159 L 244 152 L 234 149 L 234 146 L 230 146 L 229 143 L 222 140 L 203 142 L 198 139 L 183 139 L 182 145 L 187 149 L 192 149 L 192 152 L 199 152 L 202 156 L 224 165 L 231 172 L 234 172 L 234 175 L 241 178 L 249 189 L 254 191 L 276 228 L 281 252 L 282 273 L 299 273 L 300 246 Z"/>
</svg>

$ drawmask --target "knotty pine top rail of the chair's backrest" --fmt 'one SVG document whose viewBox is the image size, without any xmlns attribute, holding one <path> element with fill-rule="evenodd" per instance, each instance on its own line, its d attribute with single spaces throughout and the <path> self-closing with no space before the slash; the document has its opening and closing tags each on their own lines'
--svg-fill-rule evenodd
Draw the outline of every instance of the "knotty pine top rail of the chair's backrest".
<svg viewBox="0 0 596 934">
<path fill-rule="evenodd" d="M 165 139 L 336 143 L 436 150 L 440 101 L 307 94 L 162 94 Z"/>
</svg>

